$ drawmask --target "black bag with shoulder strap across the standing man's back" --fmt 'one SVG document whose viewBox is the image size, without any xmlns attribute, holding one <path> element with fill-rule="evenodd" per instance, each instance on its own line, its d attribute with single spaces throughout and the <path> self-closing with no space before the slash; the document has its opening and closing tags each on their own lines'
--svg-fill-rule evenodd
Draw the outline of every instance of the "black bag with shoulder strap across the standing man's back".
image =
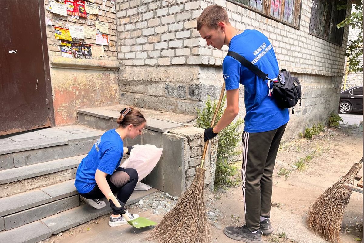
<svg viewBox="0 0 364 243">
<path fill-rule="evenodd" d="M 268 78 L 268 74 L 262 72 L 257 66 L 246 60 L 243 56 L 236 52 L 229 51 L 228 56 L 233 57 L 243 64 L 250 71 L 254 72 L 263 81 L 268 79 L 269 93 L 272 92 L 272 96 L 277 103 L 277 106 L 285 109 L 292 107 L 292 114 L 294 114 L 294 106 L 297 105 L 298 100 L 301 105 L 301 84 L 298 78 L 293 77 L 289 71 L 282 69 L 279 72 L 278 77 L 274 79 Z M 271 86 L 272 85 L 272 88 Z"/>
</svg>

